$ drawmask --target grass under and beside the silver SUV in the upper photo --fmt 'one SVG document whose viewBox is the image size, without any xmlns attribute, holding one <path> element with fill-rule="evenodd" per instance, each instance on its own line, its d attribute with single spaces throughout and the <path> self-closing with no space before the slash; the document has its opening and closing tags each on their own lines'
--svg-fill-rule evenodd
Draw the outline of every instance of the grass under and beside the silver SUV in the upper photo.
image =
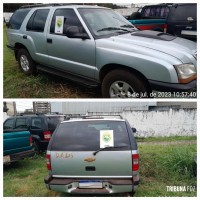
<svg viewBox="0 0 200 200">
<path fill-rule="evenodd" d="M 99 88 L 87 88 L 49 74 L 26 76 L 14 55 L 6 47 L 3 27 L 3 96 L 4 98 L 100 98 Z"/>
</svg>

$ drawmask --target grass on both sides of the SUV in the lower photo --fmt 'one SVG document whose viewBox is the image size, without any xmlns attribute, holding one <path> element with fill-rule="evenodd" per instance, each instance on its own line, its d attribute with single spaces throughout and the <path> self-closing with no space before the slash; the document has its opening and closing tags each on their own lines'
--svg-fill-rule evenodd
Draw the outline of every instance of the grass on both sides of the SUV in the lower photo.
<svg viewBox="0 0 200 200">
<path fill-rule="evenodd" d="M 188 145 L 142 145 L 140 152 L 140 185 L 136 197 L 196 196 L 197 192 L 168 192 L 167 186 L 197 185 L 194 154 L 196 144 Z M 4 166 L 4 196 L 55 197 L 72 196 L 47 190 L 45 156 L 35 156 Z M 112 195 L 113 196 L 113 195 Z M 118 195 L 114 195 L 118 196 Z"/>
</svg>

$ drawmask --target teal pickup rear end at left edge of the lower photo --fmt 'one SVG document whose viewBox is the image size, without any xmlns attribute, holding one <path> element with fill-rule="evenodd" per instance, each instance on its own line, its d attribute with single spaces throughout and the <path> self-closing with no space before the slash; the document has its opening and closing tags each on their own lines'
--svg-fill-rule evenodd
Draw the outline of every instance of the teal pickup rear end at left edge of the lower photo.
<svg viewBox="0 0 200 200">
<path fill-rule="evenodd" d="M 32 137 L 28 131 L 3 133 L 3 164 L 16 162 L 34 155 Z"/>
</svg>

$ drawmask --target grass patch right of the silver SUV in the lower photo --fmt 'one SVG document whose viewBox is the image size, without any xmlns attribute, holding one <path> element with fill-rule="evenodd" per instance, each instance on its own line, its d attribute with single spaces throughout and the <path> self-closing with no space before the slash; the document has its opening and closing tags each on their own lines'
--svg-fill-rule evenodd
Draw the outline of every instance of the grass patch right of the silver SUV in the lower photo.
<svg viewBox="0 0 200 200">
<path fill-rule="evenodd" d="M 139 145 L 141 196 L 196 196 L 197 192 L 168 192 L 167 186 L 197 186 L 194 155 L 196 145 Z"/>
</svg>

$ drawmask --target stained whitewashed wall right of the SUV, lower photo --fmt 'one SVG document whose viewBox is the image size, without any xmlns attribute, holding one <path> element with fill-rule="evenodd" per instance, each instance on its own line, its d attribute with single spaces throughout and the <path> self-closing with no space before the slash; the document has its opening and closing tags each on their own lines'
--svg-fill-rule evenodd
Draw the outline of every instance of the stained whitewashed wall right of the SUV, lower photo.
<svg viewBox="0 0 200 200">
<path fill-rule="evenodd" d="M 122 116 L 137 129 L 138 137 L 197 135 L 196 109 L 125 111 Z"/>
</svg>

